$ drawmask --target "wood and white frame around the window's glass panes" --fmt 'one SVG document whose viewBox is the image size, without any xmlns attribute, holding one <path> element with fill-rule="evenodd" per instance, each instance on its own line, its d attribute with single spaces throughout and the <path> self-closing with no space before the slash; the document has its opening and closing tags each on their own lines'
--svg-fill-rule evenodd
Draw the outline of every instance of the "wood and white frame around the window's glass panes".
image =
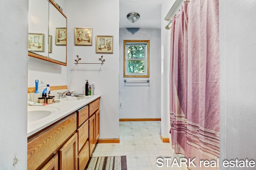
<svg viewBox="0 0 256 170">
<path fill-rule="evenodd" d="M 144 69 L 145 69 L 145 73 L 128 73 L 128 61 L 130 61 L 131 59 L 128 59 L 127 57 L 127 48 L 126 48 L 126 43 L 146 43 L 147 47 L 146 47 L 146 51 L 144 54 Z M 150 40 L 124 40 L 124 77 L 147 77 L 149 78 L 149 54 L 150 54 Z M 138 60 L 142 60 L 142 59 L 133 59 L 133 61 L 138 61 Z M 146 68 L 145 68 L 146 67 Z"/>
</svg>

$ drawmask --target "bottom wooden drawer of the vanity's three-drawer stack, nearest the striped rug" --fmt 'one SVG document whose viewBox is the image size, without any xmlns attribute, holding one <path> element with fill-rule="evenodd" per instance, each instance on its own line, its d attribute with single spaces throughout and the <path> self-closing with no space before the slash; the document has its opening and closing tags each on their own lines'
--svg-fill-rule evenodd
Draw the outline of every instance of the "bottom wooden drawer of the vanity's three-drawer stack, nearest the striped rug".
<svg viewBox="0 0 256 170">
<path fill-rule="evenodd" d="M 78 170 L 84 170 L 89 158 L 89 142 L 87 141 L 81 152 L 78 154 Z"/>
</svg>

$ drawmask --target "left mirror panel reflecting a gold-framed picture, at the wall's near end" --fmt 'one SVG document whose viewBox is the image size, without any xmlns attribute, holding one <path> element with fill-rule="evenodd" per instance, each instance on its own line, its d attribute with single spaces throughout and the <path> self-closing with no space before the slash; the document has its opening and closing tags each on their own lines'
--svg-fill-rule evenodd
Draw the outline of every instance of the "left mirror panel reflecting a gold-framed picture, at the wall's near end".
<svg viewBox="0 0 256 170">
<path fill-rule="evenodd" d="M 29 0 L 28 51 L 48 56 L 48 7 L 47 0 Z"/>
</svg>

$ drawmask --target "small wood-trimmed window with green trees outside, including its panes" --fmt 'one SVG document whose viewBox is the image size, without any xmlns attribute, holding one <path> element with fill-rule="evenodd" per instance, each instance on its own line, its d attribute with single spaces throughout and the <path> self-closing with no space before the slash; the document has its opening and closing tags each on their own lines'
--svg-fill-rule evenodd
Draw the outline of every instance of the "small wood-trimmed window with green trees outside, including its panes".
<svg viewBox="0 0 256 170">
<path fill-rule="evenodd" d="M 149 77 L 149 40 L 124 40 L 124 77 Z"/>
</svg>

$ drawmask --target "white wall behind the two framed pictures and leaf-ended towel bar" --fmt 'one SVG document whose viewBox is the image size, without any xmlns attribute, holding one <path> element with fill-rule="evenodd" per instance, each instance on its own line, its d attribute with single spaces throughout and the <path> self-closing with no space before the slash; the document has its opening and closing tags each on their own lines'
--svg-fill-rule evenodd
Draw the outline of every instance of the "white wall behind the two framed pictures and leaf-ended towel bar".
<svg viewBox="0 0 256 170">
<path fill-rule="evenodd" d="M 111 3 L 105 0 L 68 0 L 68 88 L 77 93 L 85 93 L 85 80 L 95 83 L 95 94 L 100 100 L 100 139 L 119 138 L 118 114 L 118 72 L 119 72 L 119 0 Z M 92 46 L 74 45 L 74 27 L 92 28 Z M 95 36 L 113 35 L 113 54 L 96 53 Z M 74 64 L 78 55 L 80 63 Z"/>
</svg>

